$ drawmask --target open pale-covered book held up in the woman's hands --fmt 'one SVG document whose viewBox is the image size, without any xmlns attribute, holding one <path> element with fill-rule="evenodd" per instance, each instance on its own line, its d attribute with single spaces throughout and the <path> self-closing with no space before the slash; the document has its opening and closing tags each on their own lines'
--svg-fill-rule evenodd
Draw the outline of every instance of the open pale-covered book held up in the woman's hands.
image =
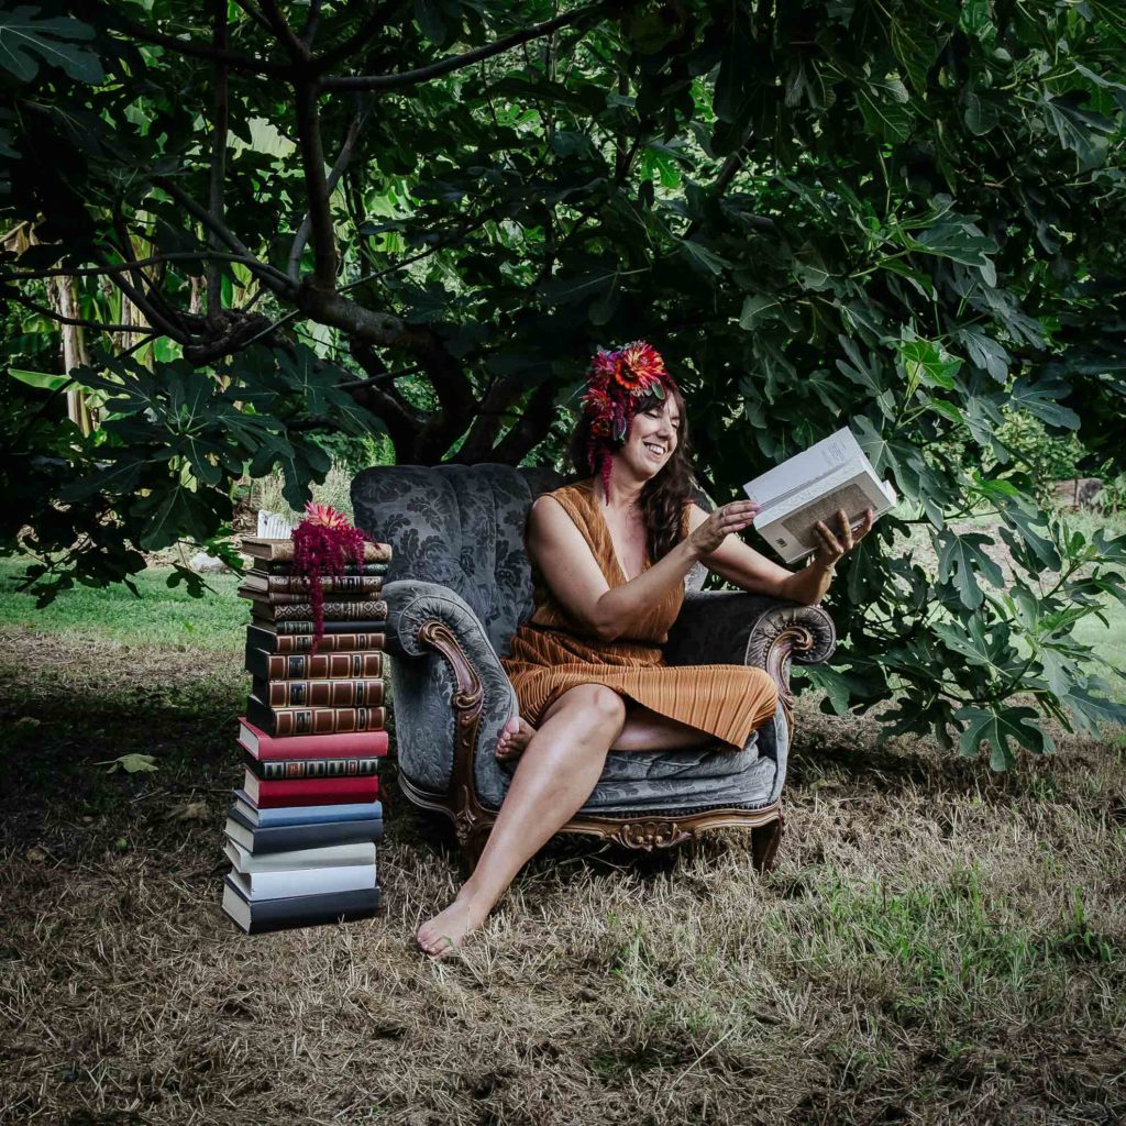
<svg viewBox="0 0 1126 1126">
<path fill-rule="evenodd" d="M 897 500 L 892 485 L 876 476 L 848 427 L 748 481 L 743 491 L 762 506 L 756 530 L 787 563 L 816 551 L 817 520 L 839 535 L 840 509 L 856 528 L 869 508 L 882 516 Z"/>
</svg>

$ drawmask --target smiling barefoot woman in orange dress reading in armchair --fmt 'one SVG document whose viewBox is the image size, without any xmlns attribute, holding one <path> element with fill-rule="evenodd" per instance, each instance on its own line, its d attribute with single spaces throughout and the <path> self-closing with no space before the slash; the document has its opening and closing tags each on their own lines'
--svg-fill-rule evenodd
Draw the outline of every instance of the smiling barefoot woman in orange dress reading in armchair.
<svg viewBox="0 0 1126 1126">
<path fill-rule="evenodd" d="M 519 761 L 473 875 L 419 929 L 419 947 L 432 957 L 484 921 L 590 796 L 610 750 L 718 740 L 738 751 L 774 715 L 777 688 L 761 669 L 663 663 L 660 645 L 698 561 L 743 590 L 810 605 L 872 528 L 870 510 L 856 531 L 843 512 L 837 535 L 819 524 L 817 549 L 797 572 L 732 535 L 759 506 L 735 501 L 707 513 L 690 500 L 683 397 L 644 341 L 597 354 L 582 404 L 571 457 L 587 473 L 531 506 L 525 542 L 535 610 L 501 662 L 520 715 L 495 753 Z"/>
</svg>

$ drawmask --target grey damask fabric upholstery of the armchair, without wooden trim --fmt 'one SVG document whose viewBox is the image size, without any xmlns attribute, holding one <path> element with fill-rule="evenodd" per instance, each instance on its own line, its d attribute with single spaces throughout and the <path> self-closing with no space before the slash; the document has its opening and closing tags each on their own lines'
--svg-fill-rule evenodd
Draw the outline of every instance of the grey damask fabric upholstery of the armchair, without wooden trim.
<svg viewBox="0 0 1126 1126">
<path fill-rule="evenodd" d="M 444 658 L 419 643 L 437 620 L 452 631 L 483 689 L 474 779 L 482 805 L 499 808 L 515 763 L 501 765 L 493 747 L 517 714 L 516 694 L 500 664 L 517 625 L 533 610 L 524 526 L 533 500 L 555 488 L 551 470 L 507 465 L 401 465 L 366 470 L 352 482 L 356 525 L 390 543 L 386 575 L 387 649 L 399 768 L 418 787 L 448 790 L 453 770 L 455 685 Z M 700 503 L 714 506 L 703 495 Z M 670 663 L 761 664 L 763 638 L 795 615 L 817 634 L 822 660 L 832 649 L 832 624 L 820 609 L 790 607 L 745 593 L 704 592 L 704 569 L 686 580 L 680 618 L 670 632 Z M 700 807 L 753 808 L 775 802 L 786 774 L 788 727 L 781 705 L 772 724 L 752 733 L 742 751 L 715 744 L 678 751 L 615 752 L 582 813 L 688 812 Z"/>
</svg>

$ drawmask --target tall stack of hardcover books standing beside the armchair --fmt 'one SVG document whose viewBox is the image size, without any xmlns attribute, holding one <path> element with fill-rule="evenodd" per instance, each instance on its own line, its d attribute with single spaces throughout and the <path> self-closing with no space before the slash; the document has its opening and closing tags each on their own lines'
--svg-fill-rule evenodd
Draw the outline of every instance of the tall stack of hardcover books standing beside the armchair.
<svg viewBox="0 0 1126 1126">
<path fill-rule="evenodd" d="M 293 540 L 247 538 L 254 569 L 239 745 L 245 775 L 227 811 L 223 909 L 249 933 L 368 918 L 379 906 L 377 767 L 387 753 L 387 544 L 324 577 L 324 635 L 313 653 L 309 580 Z"/>
</svg>

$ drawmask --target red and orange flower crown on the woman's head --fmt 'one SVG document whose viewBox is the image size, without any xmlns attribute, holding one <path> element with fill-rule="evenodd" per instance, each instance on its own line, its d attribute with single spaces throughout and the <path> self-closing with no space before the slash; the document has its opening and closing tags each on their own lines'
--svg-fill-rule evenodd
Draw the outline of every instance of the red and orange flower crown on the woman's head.
<svg viewBox="0 0 1126 1126">
<path fill-rule="evenodd" d="M 625 440 L 642 399 L 649 394 L 664 399 L 665 388 L 676 383 L 661 354 L 644 340 L 613 351 L 599 349 L 590 361 L 587 383 L 580 400 L 590 419 L 587 464 L 591 473 L 601 473 L 609 499 L 611 444 Z"/>
</svg>

